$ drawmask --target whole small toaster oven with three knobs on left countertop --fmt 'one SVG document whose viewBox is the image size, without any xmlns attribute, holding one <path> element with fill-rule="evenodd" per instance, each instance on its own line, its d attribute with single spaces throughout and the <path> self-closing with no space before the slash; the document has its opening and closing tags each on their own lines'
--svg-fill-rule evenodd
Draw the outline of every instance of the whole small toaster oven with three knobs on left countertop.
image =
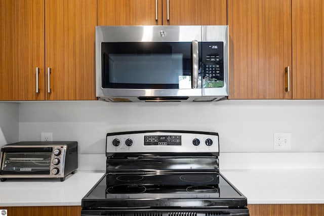
<svg viewBox="0 0 324 216">
<path fill-rule="evenodd" d="M 77 169 L 77 142 L 18 142 L 5 145 L 0 154 L 0 180 L 52 178 L 65 180 Z"/>
</svg>

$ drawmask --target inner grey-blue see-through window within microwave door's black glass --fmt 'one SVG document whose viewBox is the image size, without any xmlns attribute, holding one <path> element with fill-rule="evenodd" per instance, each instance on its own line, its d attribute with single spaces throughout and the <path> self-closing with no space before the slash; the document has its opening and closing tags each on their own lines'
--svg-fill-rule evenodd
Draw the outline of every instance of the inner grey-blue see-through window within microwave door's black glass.
<svg viewBox="0 0 324 216">
<path fill-rule="evenodd" d="M 183 54 L 110 54 L 109 80 L 113 83 L 177 84 Z"/>
</svg>

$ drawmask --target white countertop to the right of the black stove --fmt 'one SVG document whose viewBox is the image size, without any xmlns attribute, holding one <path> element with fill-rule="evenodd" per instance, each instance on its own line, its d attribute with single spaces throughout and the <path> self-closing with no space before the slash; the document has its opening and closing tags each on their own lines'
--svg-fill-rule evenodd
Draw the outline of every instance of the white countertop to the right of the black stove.
<svg viewBox="0 0 324 216">
<path fill-rule="evenodd" d="M 225 169 L 248 204 L 324 203 L 324 169 Z"/>
</svg>

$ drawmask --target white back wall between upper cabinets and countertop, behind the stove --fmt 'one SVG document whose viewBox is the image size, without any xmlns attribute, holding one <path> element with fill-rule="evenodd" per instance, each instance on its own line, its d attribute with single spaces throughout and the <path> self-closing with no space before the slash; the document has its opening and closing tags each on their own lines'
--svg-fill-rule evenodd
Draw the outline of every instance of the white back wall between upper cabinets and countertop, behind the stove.
<svg viewBox="0 0 324 216">
<path fill-rule="evenodd" d="M 324 100 L 19 104 L 20 141 L 52 132 L 53 140 L 78 141 L 79 154 L 104 154 L 106 133 L 142 129 L 218 132 L 221 152 L 278 152 L 273 133 L 290 132 L 288 152 L 324 152 Z"/>
</svg>

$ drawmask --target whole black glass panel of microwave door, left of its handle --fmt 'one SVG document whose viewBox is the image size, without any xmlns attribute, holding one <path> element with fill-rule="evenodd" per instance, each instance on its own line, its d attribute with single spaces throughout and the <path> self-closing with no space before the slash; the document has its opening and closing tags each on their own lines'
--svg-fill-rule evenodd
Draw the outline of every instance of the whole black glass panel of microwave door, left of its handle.
<svg viewBox="0 0 324 216">
<path fill-rule="evenodd" d="M 102 87 L 191 89 L 191 42 L 104 42 Z"/>
</svg>

